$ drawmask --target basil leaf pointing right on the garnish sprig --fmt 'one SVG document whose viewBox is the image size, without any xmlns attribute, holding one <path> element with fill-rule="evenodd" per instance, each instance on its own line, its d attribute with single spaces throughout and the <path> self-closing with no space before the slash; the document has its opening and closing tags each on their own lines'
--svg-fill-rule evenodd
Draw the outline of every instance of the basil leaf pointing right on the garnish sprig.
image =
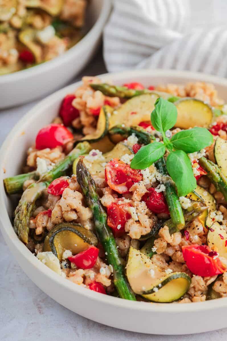
<svg viewBox="0 0 227 341">
<path fill-rule="evenodd" d="M 206 128 L 195 127 L 182 130 L 171 138 L 173 148 L 181 149 L 185 153 L 194 153 L 213 143 L 213 136 Z"/>
</svg>

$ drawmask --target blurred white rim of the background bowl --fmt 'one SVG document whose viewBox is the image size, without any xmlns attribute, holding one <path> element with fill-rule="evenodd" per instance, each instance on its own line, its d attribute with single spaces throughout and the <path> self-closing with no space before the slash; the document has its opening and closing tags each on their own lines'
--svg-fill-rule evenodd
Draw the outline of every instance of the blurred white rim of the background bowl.
<svg viewBox="0 0 227 341">
<path fill-rule="evenodd" d="M 111 10 L 111 1 L 103 0 L 102 8 L 99 16 L 97 17 L 94 25 L 90 28 L 90 30 L 85 34 L 85 36 L 78 42 L 76 45 L 71 47 L 69 50 L 65 51 L 62 55 L 51 59 L 47 62 L 31 66 L 28 69 L 22 69 L 17 72 L 12 72 L 10 74 L 5 74 L 0 76 L 0 84 L 4 84 L 5 82 L 14 82 L 20 79 L 26 79 L 32 76 L 36 76 L 39 73 L 45 73 L 46 71 L 50 71 L 54 69 L 56 66 L 63 65 L 67 59 L 73 57 L 74 54 L 79 54 L 80 51 L 84 49 L 84 46 L 91 41 L 94 36 L 97 35 L 97 32 L 101 32 L 106 20 L 110 14 Z"/>
</svg>

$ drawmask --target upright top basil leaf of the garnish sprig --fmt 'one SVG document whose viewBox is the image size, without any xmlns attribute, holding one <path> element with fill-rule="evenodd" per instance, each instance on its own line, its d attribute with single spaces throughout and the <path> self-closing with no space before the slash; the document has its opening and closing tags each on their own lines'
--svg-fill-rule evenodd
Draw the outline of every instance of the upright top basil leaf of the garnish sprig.
<svg viewBox="0 0 227 341">
<path fill-rule="evenodd" d="M 171 102 L 158 98 L 151 113 L 151 123 L 157 131 L 164 134 L 177 122 L 177 108 Z"/>
</svg>

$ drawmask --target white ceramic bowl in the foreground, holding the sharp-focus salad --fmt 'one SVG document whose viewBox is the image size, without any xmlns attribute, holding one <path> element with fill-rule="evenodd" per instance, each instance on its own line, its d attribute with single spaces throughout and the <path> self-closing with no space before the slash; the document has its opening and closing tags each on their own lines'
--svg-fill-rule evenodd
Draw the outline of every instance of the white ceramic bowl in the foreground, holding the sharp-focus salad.
<svg viewBox="0 0 227 341">
<path fill-rule="evenodd" d="M 203 80 L 213 83 L 227 101 L 227 80 L 214 76 L 165 70 L 102 75 L 121 85 L 139 81 L 145 86 Z M 13 128 L 0 151 L 1 231 L 14 258 L 28 277 L 64 307 L 91 320 L 125 330 L 153 334 L 187 334 L 227 327 L 227 298 L 200 303 L 145 303 L 95 293 L 67 281 L 47 268 L 17 238 L 11 224 L 12 202 L 4 193 L 3 178 L 18 174 L 26 150 L 38 130 L 57 115 L 62 98 L 80 83 L 70 85 L 37 104 Z M 5 173 L 4 173 L 5 172 Z"/>
</svg>

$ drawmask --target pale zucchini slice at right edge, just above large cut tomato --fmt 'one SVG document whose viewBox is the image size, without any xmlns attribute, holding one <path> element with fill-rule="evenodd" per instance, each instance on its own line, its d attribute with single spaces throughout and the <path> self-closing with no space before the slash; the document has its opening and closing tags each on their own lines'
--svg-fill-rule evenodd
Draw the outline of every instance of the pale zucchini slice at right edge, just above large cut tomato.
<svg viewBox="0 0 227 341">
<path fill-rule="evenodd" d="M 220 256 L 227 259 L 226 240 L 227 233 L 224 228 L 218 222 L 213 223 L 207 234 L 207 244 L 212 250 L 215 249 Z"/>
</svg>

